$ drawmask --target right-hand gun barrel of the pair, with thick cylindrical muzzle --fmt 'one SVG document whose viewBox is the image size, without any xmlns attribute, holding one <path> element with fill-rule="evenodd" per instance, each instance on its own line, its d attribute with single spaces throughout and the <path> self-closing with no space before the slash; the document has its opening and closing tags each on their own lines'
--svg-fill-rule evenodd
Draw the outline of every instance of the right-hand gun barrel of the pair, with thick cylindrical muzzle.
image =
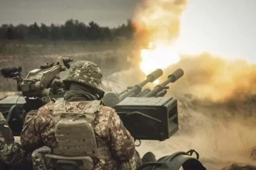
<svg viewBox="0 0 256 170">
<path fill-rule="evenodd" d="M 172 74 L 170 74 L 167 77 L 167 80 L 165 80 L 163 83 L 157 85 L 152 91 L 148 92 L 143 97 L 153 97 L 153 96 L 156 96 L 159 92 L 161 92 L 162 90 L 165 89 L 167 84 L 176 82 L 183 75 L 184 75 L 184 71 L 182 69 L 178 68 L 176 71 L 174 71 Z"/>
</svg>

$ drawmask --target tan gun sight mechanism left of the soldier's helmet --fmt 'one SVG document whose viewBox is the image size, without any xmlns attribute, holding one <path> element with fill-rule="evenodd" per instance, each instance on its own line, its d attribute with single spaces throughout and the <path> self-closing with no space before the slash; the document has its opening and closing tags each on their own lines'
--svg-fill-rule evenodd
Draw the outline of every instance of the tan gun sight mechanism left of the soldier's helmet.
<svg viewBox="0 0 256 170">
<path fill-rule="evenodd" d="M 60 81 L 58 76 L 61 71 L 65 71 L 69 68 L 69 62 L 72 62 L 71 58 L 57 58 L 57 62 L 45 63 L 40 66 L 39 69 L 34 69 L 28 72 L 26 78 L 24 78 L 20 72 L 21 67 L 9 67 L 3 68 L 1 74 L 6 78 L 13 78 L 17 82 L 17 90 L 22 92 L 23 96 L 40 98 L 43 104 L 50 102 L 51 97 L 54 94 L 60 95 L 64 88 L 64 84 Z"/>
</svg>

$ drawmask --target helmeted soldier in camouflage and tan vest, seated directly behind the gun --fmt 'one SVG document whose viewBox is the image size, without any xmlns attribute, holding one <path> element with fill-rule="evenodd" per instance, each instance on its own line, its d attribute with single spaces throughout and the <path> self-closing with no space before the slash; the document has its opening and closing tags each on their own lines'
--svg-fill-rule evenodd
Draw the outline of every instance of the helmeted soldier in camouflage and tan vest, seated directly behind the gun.
<svg viewBox="0 0 256 170">
<path fill-rule="evenodd" d="M 64 98 L 45 104 L 37 114 L 29 113 L 25 118 L 20 141 L 23 149 L 34 151 L 34 168 L 54 168 L 44 163 L 49 154 L 54 158 L 83 157 L 83 166 L 94 170 L 135 170 L 140 166 L 133 137 L 116 111 L 100 101 L 104 91 L 97 64 L 74 63 L 63 82 L 69 88 Z"/>
</svg>

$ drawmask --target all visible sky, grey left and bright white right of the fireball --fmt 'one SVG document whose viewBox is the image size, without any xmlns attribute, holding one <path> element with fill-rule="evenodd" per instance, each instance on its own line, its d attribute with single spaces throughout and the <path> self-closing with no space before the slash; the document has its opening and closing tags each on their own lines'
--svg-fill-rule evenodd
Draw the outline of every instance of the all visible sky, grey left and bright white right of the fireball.
<svg viewBox="0 0 256 170">
<path fill-rule="evenodd" d="M 116 27 L 132 18 L 138 0 L 0 0 L 0 24 L 78 19 Z M 203 50 L 256 62 L 256 0 L 189 0 L 182 16 L 182 51 Z"/>
</svg>

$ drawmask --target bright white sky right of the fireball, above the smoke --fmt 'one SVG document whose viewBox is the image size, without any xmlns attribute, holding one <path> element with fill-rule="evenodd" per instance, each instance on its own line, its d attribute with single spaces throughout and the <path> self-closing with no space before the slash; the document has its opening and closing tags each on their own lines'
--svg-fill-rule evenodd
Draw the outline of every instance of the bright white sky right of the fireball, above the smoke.
<svg viewBox="0 0 256 170">
<path fill-rule="evenodd" d="M 181 48 L 256 63 L 256 0 L 190 0 L 182 16 Z"/>
</svg>

